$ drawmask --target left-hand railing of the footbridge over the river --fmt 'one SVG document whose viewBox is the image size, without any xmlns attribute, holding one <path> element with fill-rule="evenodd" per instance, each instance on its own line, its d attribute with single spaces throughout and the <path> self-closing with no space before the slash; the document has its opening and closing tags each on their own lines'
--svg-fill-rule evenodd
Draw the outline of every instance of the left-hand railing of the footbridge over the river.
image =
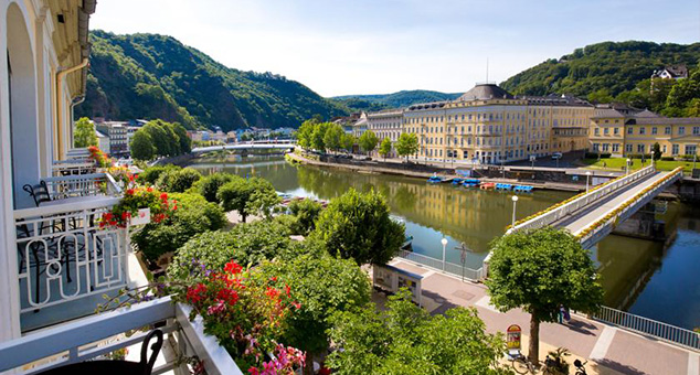
<svg viewBox="0 0 700 375">
<path fill-rule="evenodd" d="M 510 234 L 515 231 L 534 229 L 550 225 L 565 217 L 566 215 L 570 215 L 583 207 L 588 206 L 591 203 L 611 194 L 612 192 L 635 181 L 638 181 L 654 172 L 654 165 L 649 165 L 632 174 L 611 180 L 604 184 L 593 188 L 587 193 L 580 194 L 568 201 L 564 201 L 563 203 L 560 203 L 559 205 L 554 205 L 532 218 L 524 219 L 521 223 L 516 223 L 516 226 L 509 228 L 506 233 Z"/>
</svg>

